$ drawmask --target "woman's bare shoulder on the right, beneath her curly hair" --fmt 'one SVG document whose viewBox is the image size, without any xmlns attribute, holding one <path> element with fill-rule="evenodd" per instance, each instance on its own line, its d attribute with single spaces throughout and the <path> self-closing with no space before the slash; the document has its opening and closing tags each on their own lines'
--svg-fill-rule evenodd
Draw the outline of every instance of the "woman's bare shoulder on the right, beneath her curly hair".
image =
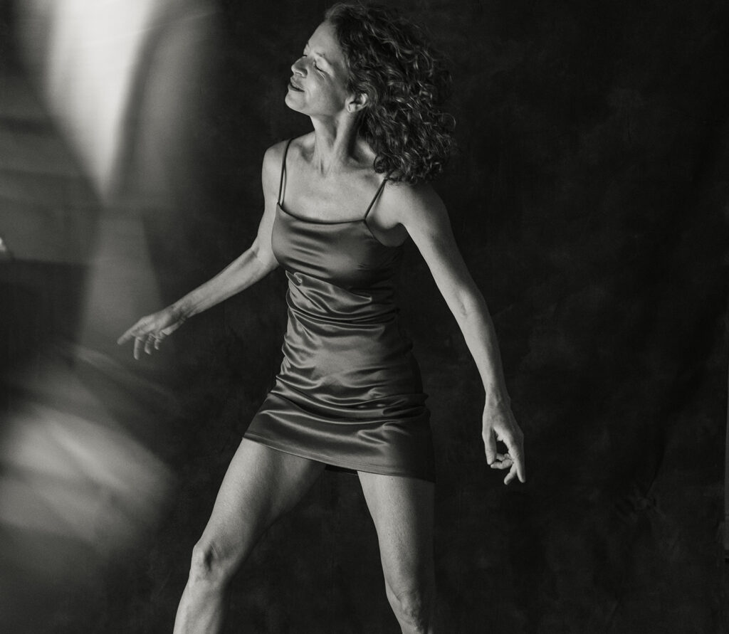
<svg viewBox="0 0 729 634">
<path fill-rule="evenodd" d="M 404 225 L 411 234 L 413 230 L 448 223 L 443 199 L 429 183 L 388 181 L 383 191 L 383 208 L 383 216 L 392 224 Z"/>
</svg>

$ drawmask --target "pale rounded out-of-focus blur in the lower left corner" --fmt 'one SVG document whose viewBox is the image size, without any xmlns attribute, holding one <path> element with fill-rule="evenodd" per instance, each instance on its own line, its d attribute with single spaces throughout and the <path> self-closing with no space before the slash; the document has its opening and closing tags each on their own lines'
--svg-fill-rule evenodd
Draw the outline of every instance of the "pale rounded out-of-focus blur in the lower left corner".
<svg viewBox="0 0 729 634">
<path fill-rule="evenodd" d="M 81 541 L 103 557 L 132 547 L 159 519 L 170 471 L 71 368 L 16 388 L 28 398 L 0 447 L 0 523 Z"/>
</svg>

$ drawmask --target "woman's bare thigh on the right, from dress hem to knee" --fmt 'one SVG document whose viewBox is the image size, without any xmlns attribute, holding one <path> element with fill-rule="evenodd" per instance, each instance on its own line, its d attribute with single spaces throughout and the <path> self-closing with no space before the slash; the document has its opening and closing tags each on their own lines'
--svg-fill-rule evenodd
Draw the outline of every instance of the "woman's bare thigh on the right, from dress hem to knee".
<svg viewBox="0 0 729 634">
<path fill-rule="evenodd" d="M 359 481 L 377 530 L 388 589 L 432 585 L 433 483 L 364 471 Z"/>
</svg>

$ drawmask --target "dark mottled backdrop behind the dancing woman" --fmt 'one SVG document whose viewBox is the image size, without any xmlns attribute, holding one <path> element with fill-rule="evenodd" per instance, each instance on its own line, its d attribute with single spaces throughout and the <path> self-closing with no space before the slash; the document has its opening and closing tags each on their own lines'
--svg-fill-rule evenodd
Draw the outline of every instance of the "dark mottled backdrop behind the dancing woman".
<svg viewBox="0 0 729 634">
<path fill-rule="evenodd" d="M 176 122 L 170 156 L 164 144 L 157 154 L 171 199 L 144 216 L 165 302 L 252 242 L 263 152 L 310 129 L 283 98 L 289 65 L 328 4 L 218 2 L 202 96 Z M 432 410 L 448 631 L 727 631 L 728 7 L 396 4 L 453 61 L 459 152 L 435 187 L 494 317 L 529 466 L 526 485 L 508 488 L 486 466 L 475 365 L 410 245 L 400 298 Z M 8 7 L 3 34 L 12 34 Z M 3 72 L 25 85 L 7 43 Z M 31 79 L 26 87 L 36 94 Z M 137 141 L 151 125 L 142 114 L 154 89 L 140 90 L 124 166 L 129 200 L 144 192 Z M 0 119 L 61 138 L 48 122 L 34 125 Z M 184 163 L 171 155 L 181 147 Z M 73 179 L 73 200 L 93 198 L 80 171 Z M 4 369 L 51 354 L 67 360 L 87 265 L 16 260 L 0 272 Z M 76 568 L 73 584 L 63 565 L 39 582 L 8 550 L 3 587 L 15 609 L 0 628 L 171 631 L 192 544 L 278 369 L 284 292 L 279 270 L 140 364 L 110 345 L 105 353 L 124 368 L 115 374 L 76 361 L 101 398 L 128 392 L 133 377 L 165 386 L 170 401 L 140 397 L 146 418 L 123 399 L 108 396 L 109 407 L 175 485 L 157 523 L 121 554 L 79 564 L 87 548 L 66 544 L 78 552 L 64 560 Z M 52 541 L 39 543 L 52 552 Z M 396 632 L 356 477 L 327 471 L 265 534 L 231 602 L 230 632 Z"/>
</svg>

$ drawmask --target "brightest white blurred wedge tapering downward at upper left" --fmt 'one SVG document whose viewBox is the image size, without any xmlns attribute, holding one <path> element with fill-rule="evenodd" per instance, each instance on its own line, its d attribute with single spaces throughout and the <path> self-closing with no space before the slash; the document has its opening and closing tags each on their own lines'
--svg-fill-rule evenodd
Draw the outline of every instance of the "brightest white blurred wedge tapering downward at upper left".
<svg viewBox="0 0 729 634">
<path fill-rule="evenodd" d="M 112 186 L 123 116 L 157 0 L 23 0 L 23 42 L 53 114 L 101 192 Z"/>
</svg>

